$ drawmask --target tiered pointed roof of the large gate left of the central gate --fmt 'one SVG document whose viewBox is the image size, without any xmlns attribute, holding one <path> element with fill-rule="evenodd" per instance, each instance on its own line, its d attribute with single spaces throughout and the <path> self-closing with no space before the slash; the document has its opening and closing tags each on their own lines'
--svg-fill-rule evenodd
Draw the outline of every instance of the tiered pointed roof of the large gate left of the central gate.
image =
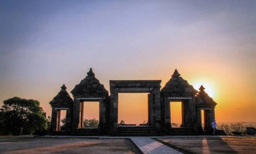
<svg viewBox="0 0 256 154">
<path fill-rule="evenodd" d="M 75 97 L 105 97 L 108 96 L 108 91 L 104 88 L 104 85 L 96 79 L 95 74 L 90 68 L 87 72 L 85 79 L 82 79 L 79 84 L 71 91 Z"/>
</svg>

